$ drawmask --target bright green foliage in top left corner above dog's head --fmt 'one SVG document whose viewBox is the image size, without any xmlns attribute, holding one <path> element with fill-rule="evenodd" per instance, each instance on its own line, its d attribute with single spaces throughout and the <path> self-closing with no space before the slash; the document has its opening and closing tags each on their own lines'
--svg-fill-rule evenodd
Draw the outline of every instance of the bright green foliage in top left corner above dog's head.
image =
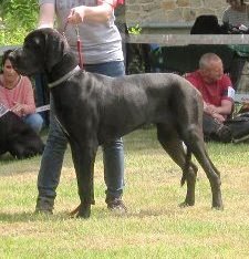
<svg viewBox="0 0 249 259">
<path fill-rule="evenodd" d="M 0 45 L 21 44 L 37 20 L 37 0 L 0 0 Z"/>
</svg>

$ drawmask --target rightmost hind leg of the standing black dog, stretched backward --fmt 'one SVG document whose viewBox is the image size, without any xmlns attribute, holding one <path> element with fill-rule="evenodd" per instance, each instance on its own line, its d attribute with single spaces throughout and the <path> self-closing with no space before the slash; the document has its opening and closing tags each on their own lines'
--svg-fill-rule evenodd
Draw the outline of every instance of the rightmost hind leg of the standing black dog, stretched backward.
<svg viewBox="0 0 249 259">
<path fill-rule="evenodd" d="M 207 154 L 203 138 L 201 127 L 197 125 L 191 125 L 189 127 L 183 128 L 183 138 L 189 151 L 195 155 L 198 163 L 204 168 L 209 179 L 212 194 L 212 207 L 217 209 L 222 209 L 220 174 Z"/>
</svg>

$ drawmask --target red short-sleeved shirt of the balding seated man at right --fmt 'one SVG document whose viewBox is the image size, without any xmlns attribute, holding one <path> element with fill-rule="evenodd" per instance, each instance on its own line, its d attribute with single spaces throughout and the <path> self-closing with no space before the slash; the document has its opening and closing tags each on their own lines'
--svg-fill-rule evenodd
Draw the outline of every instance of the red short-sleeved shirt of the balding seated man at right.
<svg viewBox="0 0 249 259">
<path fill-rule="evenodd" d="M 220 80 L 211 84 L 204 82 L 198 71 L 187 74 L 186 79 L 199 90 L 206 103 L 220 106 L 222 100 L 232 102 L 232 99 L 228 96 L 228 87 L 232 87 L 228 75 L 224 74 Z"/>
</svg>

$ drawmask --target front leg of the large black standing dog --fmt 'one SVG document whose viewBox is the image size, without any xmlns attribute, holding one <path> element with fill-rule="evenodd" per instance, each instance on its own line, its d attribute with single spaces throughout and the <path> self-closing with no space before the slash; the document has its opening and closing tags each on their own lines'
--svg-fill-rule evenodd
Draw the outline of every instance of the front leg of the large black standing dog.
<svg viewBox="0 0 249 259">
<path fill-rule="evenodd" d="M 83 141 L 82 143 L 71 142 L 71 149 L 81 199 L 81 204 L 76 209 L 76 216 L 89 218 L 91 205 L 94 204 L 93 175 L 97 144 L 93 144 L 90 141 Z"/>
</svg>

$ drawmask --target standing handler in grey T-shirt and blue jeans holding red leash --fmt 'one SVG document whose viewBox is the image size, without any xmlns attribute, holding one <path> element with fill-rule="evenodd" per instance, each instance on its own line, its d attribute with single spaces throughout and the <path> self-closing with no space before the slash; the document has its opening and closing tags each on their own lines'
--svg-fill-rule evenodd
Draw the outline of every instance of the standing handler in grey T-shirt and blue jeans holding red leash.
<svg viewBox="0 0 249 259">
<path fill-rule="evenodd" d="M 122 39 L 114 24 L 117 3 L 118 0 L 39 0 L 39 28 L 53 28 L 56 17 L 58 30 L 65 34 L 77 56 L 81 55 L 80 38 L 83 59 L 79 56 L 79 63 L 83 60 L 84 70 L 122 76 L 125 74 Z M 68 139 L 55 120 L 52 99 L 50 105 L 50 128 L 38 175 L 35 211 L 52 214 Z M 103 145 L 103 159 L 107 208 L 126 211 L 122 200 L 124 151 L 121 138 Z"/>
</svg>

